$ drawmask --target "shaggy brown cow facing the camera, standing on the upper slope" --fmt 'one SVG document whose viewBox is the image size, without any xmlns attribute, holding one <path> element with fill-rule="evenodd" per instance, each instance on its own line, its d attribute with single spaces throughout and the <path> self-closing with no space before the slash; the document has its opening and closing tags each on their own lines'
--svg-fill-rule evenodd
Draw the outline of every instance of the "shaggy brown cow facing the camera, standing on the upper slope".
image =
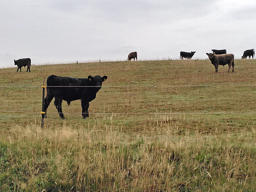
<svg viewBox="0 0 256 192">
<path fill-rule="evenodd" d="M 228 64 L 228 73 L 232 65 L 232 72 L 234 72 L 235 62 L 234 62 L 234 55 L 233 54 L 221 54 L 216 55 L 215 53 L 206 53 L 209 59 L 212 61 L 212 65 L 215 66 L 215 73 L 218 73 L 219 65 L 226 65 Z"/>
</svg>

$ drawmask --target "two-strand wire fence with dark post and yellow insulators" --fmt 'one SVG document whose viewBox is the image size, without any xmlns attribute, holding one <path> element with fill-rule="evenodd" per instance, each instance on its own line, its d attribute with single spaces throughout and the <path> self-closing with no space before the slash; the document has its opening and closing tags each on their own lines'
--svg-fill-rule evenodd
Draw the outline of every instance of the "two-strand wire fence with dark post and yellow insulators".
<svg viewBox="0 0 256 192">
<path fill-rule="evenodd" d="M 110 87 L 214 87 L 214 86 L 256 86 L 256 84 L 202 84 L 202 85 L 106 85 L 101 86 L 101 88 L 110 88 Z M 31 85 L 0 85 L 0 87 L 37 87 L 43 88 L 43 96 L 42 96 L 42 111 L 13 111 L 13 110 L 0 110 L 0 112 L 9 112 L 9 113 L 34 113 L 34 114 L 42 114 L 41 117 L 41 127 L 44 128 L 44 94 L 46 87 L 98 87 L 98 86 L 45 86 L 45 77 L 43 77 L 43 85 L 42 86 L 31 86 Z M 58 112 L 47 112 L 48 114 L 58 114 Z M 66 113 L 66 114 L 80 114 L 80 113 Z M 102 114 L 102 115 L 214 115 L 214 114 L 256 114 L 255 112 L 170 112 L 170 113 L 121 113 L 121 112 L 92 112 L 91 114 Z"/>
</svg>

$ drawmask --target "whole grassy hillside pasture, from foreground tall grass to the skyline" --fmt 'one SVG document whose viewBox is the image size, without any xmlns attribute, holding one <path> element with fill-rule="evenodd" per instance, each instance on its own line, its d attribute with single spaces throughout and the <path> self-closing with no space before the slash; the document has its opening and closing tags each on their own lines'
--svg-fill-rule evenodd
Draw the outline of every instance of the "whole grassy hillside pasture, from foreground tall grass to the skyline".
<svg viewBox="0 0 256 192">
<path fill-rule="evenodd" d="M 0 69 L 0 191 L 255 191 L 255 60 L 229 74 L 210 60 L 25 71 Z M 51 74 L 108 76 L 89 118 L 80 100 L 63 101 L 62 120 L 52 101 L 41 129 Z"/>
</svg>

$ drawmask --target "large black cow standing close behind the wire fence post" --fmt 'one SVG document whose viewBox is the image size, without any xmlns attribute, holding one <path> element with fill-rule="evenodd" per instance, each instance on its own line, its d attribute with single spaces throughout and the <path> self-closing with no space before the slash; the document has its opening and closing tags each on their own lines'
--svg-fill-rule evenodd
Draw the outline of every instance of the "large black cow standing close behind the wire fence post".
<svg viewBox="0 0 256 192">
<path fill-rule="evenodd" d="M 102 82 L 107 78 L 107 76 L 101 77 L 99 75 L 94 77 L 88 76 L 88 78 L 49 76 L 46 82 L 47 95 L 44 99 L 45 118 L 47 108 L 53 97 L 55 97 L 54 105 L 62 119 L 66 119 L 61 109 L 62 100 L 67 101 L 68 105 L 71 101 L 81 100 L 82 116 L 84 119 L 89 117 L 89 102 L 96 98 L 96 93 L 100 90 Z"/>
</svg>

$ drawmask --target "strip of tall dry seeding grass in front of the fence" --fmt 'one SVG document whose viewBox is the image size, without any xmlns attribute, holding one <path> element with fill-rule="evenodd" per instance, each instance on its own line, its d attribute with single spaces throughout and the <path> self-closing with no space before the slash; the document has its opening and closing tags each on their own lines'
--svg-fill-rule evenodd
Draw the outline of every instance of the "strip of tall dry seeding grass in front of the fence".
<svg viewBox="0 0 256 192">
<path fill-rule="evenodd" d="M 171 117 L 148 133 L 17 125 L 1 141 L 1 191 L 253 191 L 256 132 L 177 134 Z"/>
</svg>

